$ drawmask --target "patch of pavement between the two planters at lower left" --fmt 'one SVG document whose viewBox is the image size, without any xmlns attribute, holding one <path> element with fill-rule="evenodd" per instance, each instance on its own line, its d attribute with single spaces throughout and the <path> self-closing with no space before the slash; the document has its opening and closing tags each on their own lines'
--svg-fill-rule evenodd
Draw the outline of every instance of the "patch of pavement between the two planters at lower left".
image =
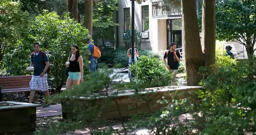
<svg viewBox="0 0 256 135">
<path fill-rule="evenodd" d="M 36 107 L 36 117 L 62 115 L 61 104 L 51 105 L 49 108 Z"/>
</svg>

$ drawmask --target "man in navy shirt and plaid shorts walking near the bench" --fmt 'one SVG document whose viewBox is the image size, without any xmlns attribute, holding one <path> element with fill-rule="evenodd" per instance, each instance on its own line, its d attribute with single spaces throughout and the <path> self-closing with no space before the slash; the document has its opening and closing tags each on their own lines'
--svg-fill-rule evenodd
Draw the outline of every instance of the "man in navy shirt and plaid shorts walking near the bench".
<svg viewBox="0 0 256 135">
<path fill-rule="evenodd" d="M 35 91 L 39 88 L 45 94 L 45 104 L 44 108 L 50 107 L 50 104 L 47 104 L 47 99 L 49 98 L 48 82 L 47 82 L 47 73 L 49 72 L 49 59 L 47 55 L 40 50 L 40 44 L 34 44 L 34 51 L 31 53 L 31 63 L 30 66 L 34 66 L 34 73 L 32 75 L 31 81 L 29 82 L 30 87 L 30 96 L 29 103 L 33 102 L 35 96 Z"/>
</svg>

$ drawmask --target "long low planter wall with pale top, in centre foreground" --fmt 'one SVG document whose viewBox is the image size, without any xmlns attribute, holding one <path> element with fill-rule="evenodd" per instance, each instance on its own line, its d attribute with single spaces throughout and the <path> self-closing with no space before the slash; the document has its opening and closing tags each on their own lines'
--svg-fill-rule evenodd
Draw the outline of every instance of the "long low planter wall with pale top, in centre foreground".
<svg viewBox="0 0 256 135">
<path fill-rule="evenodd" d="M 122 116 L 129 116 L 131 114 L 143 114 L 156 112 L 160 108 L 164 107 L 162 104 L 158 104 L 157 100 L 163 97 L 170 102 L 173 99 L 173 92 L 178 91 L 177 98 L 183 99 L 189 96 L 189 92 L 196 91 L 202 87 L 196 86 L 169 86 L 169 87 L 158 87 L 158 88 L 147 88 L 145 91 L 141 91 L 137 94 L 148 95 L 148 101 L 137 100 L 134 98 L 134 90 L 126 90 L 122 93 L 109 92 L 108 96 L 106 94 L 94 94 L 85 97 L 79 97 L 75 100 L 62 100 L 62 117 L 63 119 L 68 119 L 74 116 L 73 110 L 76 105 L 83 105 L 86 103 L 93 103 L 94 105 L 100 106 L 101 111 L 99 117 L 102 119 L 111 119 L 119 117 L 118 108 L 114 101 L 118 103 L 119 110 Z M 111 102 L 107 103 L 111 97 Z M 106 104 L 107 103 L 107 104 Z"/>
</svg>

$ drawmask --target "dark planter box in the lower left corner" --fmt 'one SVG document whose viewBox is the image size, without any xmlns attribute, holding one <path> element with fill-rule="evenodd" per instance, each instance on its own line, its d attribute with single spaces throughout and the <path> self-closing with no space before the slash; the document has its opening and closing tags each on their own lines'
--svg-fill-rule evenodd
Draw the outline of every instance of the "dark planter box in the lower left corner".
<svg viewBox="0 0 256 135">
<path fill-rule="evenodd" d="M 0 102 L 0 134 L 36 129 L 37 104 Z"/>
</svg>

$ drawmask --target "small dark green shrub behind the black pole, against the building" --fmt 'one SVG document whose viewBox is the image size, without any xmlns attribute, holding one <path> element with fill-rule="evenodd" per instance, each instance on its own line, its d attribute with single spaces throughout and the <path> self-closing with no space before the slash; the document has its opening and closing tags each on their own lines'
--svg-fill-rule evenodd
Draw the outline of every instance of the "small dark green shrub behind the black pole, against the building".
<svg viewBox="0 0 256 135">
<path fill-rule="evenodd" d="M 139 49 L 141 47 L 141 36 L 142 35 L 140 31 L 134 30 L 134 43 Z M 132 31 L 127 32 L 123 38 L 124 38 L 125 47 L 127 49 L 131 48 L 132 47 Z"/>
</svg>

